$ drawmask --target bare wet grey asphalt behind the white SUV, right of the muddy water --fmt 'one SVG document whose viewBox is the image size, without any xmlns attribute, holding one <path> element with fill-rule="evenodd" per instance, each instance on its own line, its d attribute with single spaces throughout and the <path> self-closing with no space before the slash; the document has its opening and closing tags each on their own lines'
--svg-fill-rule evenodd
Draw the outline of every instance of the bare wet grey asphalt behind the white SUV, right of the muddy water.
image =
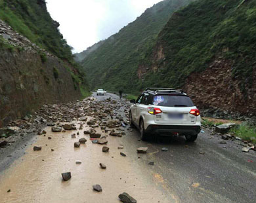
<svg viewBox="0 0 256 203">
<path fill-rule="evenodd" d="M 112 94 L 95 97 L 104 100 L 109 96 L 117 98 Z M 146 174 L 158 179 L 170 202 L 256 202 L 256 153 L 243 153 L 239 141 L 223 145 L 210 130 L 194 143 L 183 137 L 139 141 L 137 130 L 127 132 L 123 139 L 129 143 L 131 154 L 137 147 L 148 147 L 148 155 L 133 158 Z M 162 147 L 169 151 L 162 152 Z"/>
</svg>

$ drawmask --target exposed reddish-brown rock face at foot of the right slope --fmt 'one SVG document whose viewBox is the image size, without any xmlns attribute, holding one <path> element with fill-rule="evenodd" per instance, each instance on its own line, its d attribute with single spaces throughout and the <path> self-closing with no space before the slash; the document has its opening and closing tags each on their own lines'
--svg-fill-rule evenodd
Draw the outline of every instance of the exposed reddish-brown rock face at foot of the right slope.
<svg viewBox="0 0 256 203">
<path fill-rule="evenodd" d="M 201 109 L 221 109 L 228 114 L 256 115 L 256 70 L 253 84 L 247 84 L 243 92 L 240 80 L 232 75 L 232 62 L 216 59 L 201 73 L 192 73 L 184 90 Z"/>
</svg>

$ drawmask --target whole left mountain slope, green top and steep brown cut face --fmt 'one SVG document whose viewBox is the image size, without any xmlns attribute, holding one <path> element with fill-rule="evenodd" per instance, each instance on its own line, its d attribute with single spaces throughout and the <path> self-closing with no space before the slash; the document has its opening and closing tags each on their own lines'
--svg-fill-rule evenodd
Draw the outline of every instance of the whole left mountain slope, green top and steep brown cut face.
<svg viewBox="0 0 256 203">
<path fill-rule="evenodd" d="M 0 0 L 0 127 L 89 94 L 57 27 L 44 0 Z"/>
</svg>

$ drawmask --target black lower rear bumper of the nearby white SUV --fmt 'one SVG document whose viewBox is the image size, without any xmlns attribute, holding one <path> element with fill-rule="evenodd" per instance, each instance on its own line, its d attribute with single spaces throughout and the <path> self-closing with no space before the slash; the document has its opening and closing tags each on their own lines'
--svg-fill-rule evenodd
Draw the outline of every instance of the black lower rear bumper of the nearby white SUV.
<svg viewBox="0 0 256 203">
<path fill-rule="evenodd" d="M 149 125 L 145 132 L 150 134 L 169 134 L 170 136 L 174 133 L 179 135 L 190 135 L 194 136 L 199 134 L 201 126 L 177 126 L 177 125 Z"/>
</svg>

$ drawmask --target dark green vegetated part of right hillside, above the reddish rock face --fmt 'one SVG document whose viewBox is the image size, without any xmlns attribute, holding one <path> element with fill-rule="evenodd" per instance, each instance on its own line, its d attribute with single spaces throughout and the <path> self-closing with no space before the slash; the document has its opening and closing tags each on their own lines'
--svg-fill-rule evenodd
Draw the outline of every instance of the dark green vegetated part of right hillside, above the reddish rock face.
<svg viewBox="0 0 256 203">
<path fill-rule="evenodd" d="M 201 0 L 175 12 L 158 37 L 165 59 L 144 61 L 158 71 L 147 74 L 142 86 L 180 87 L 192 72 L 209 67 L 216 57 L 232 62 L 240 88 L 251 84 L 255 68 L 255 0 Z M 141 88 L 141 86 L 140 86 Z"/>
</svg>

